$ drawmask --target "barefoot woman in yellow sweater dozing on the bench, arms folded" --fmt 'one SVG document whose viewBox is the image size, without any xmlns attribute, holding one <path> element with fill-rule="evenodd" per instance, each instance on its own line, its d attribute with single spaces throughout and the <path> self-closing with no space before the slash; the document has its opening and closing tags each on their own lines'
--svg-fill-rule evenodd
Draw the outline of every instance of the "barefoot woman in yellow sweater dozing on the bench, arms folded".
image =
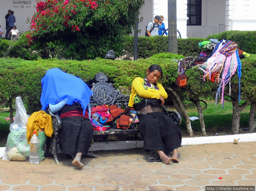
<svg viewBox="0 0 256 191">
<path fill-rule="evenodd" d="M 137 126 L 144 139 L 144 150 L 155 150 L 157 153 L 146 154 L 147 162 L 168 164 L 178 161 L 178 147 L 181 147 L 181 130 L 171 117 L 162 111 L 167 93 L 157 81 L 163 72 L 159 65 L 151 65 L 146 71 L 144 79 L 138 77 L 133 80 L 129 107 L 139 111 L 139 125 Z M 172 152 L 172 157 L 168 154 Z M 159 159 L 160 157 L 160 159 Z"/>
</svg>

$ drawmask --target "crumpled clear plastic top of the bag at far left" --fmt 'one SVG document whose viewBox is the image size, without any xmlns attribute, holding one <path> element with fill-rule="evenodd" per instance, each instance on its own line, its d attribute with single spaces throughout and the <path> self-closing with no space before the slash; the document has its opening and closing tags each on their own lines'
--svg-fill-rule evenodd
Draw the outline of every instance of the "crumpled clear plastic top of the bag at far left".
<svg viewBox="0 0 256 191">
<path fill-rule="evenodd" d="M 21 97 L 16 97 L 15 101 L 16 113 L 14 117 L 14 122 L 10 125 L 10 131 L 18 131 L 22 128 L 26 129 L 28 123 L 28 115 Z"/>
</svg>

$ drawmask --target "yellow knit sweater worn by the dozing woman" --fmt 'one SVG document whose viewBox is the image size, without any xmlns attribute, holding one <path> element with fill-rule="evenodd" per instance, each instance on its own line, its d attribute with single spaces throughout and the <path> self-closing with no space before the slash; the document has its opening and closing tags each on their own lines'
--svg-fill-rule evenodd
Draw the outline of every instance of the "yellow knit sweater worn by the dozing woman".
<svg viewBox="0 0 256 191">
<path fill-rule="evenodd" d="M 156 98 L 156 99 L 159 99 L 160 95 L 161 95 L 164 99 L 167 99 L 167 93 L 164 90 L 164 87 L 162 86 L 162 84 L 159 84 L 156 82 L 159 90 L 155 90 L 155 89 L 151 89 L 151 88 L 148 88 L 147 90 L 145 90 L 142 85 L 143 81 L 144 81 L 144 79 L 142 79 L 140 77 L 135 78 L 133 80 L 131 95 L 130 95 L 129 104 L 128 104 L 129 107 L 133 107 L 134 97 L 137 94 L 139 94 L 139 96 L 144 97 L 144 98 Z"/>
</svg>

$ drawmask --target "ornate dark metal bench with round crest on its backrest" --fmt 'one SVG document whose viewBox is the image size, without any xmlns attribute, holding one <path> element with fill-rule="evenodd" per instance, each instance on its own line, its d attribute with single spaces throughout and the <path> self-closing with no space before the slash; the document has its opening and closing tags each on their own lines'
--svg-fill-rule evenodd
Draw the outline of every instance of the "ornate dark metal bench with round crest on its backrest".
<svg viewBox="0 0 256 191">
<path fill-rule="evenodd" d="M 112 83 L 108 82 L 108 77 L 104 73 L 97 73 L 95 76 L 96 83 L 92 84 L 93 95 L 90 97 L 90 106 L 97 105 L 117 105 L 117 107 L 128 107 L 129 95 L 122 94 L 119 90 L 115 89 Z M 181 115 L 177 111 L 169 111 L 166 107 L 163 107 L 168 116 L 172 117 L 177 125 L 181 124 Z M 59 164 L 57 158 L 57 143 L 58 143 L 58 130 L 61 127 L 61 120 L 59 116 L 51 113 L 48 108 L 48 113 L 52 116 L 53 121 L 53 137 L 48 138 L 46 153 L 53 154 L 54 161 Z M 137 129 L 108 129 L 106 131 L 94 131 L 94 135 L 118 135 L 128 133 L 139 133 Z"/>
</svg>

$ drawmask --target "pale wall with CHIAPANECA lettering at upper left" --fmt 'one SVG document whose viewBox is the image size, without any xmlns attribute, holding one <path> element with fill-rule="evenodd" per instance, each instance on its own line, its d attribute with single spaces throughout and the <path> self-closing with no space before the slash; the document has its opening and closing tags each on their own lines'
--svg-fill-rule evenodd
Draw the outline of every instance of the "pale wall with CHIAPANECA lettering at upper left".
<svg viewBox="0 0 256 191">
<path fill-rule="evenodd" d="M 1 31 L 3 31 L 2 37 L 5 37 L 6 29 L 5 29 L 5 15 L 8 10 L 12 10 L 14 12 L 17 30 L 19 32 L 24 32 L 28 30 L 29 23 L 27 24 L 27 19 L 31 18 L 36 12 L 35 5 L 37 0 L 29 0 L 29 1 L 16 1 L 16 0 L 0 0 L 0 25 Z"/>
</svg>

